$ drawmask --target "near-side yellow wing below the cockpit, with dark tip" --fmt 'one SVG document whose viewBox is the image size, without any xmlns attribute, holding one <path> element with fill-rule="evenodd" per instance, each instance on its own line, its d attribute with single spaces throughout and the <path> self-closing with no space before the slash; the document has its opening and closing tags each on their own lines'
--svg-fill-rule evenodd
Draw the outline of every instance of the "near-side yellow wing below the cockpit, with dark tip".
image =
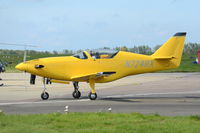
<svg viewBox="0 0 200 133">
<path fill-rule="evenodd" d="M 89 79 L 97 79 L 100 77 L 108 77 L 116 72 L 99 72 L 99 73 L 91 73 L 85 75 L 74 76 L 71 80 L 89 80 Z"/>
</svg>

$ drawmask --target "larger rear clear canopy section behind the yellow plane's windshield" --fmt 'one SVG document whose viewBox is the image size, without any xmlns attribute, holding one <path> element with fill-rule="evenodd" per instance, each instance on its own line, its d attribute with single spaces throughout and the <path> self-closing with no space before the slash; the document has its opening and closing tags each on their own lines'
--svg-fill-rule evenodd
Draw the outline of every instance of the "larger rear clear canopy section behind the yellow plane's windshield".
<svg viewBox="0 0 200 133">
<path fill-rule="evenodd" d="M 97 49 L 88 52 L 94 59 L 110 59 L 113 58 L 118 51 L 110 49 Z"/>
</svg>

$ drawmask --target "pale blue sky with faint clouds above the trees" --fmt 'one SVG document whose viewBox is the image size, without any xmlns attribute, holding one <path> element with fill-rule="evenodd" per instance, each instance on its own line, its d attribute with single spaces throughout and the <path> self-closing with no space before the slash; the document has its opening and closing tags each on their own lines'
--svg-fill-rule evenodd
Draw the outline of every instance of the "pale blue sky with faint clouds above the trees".
<svg viewBox="0 0 200 133">
<path fill-rule="evenodd" d="M 0 43 L 42 51 L 200 43 L 199 0 L 0 0 Z M 0 49 L 23 49 L 3 46 Z"/>
</svg>

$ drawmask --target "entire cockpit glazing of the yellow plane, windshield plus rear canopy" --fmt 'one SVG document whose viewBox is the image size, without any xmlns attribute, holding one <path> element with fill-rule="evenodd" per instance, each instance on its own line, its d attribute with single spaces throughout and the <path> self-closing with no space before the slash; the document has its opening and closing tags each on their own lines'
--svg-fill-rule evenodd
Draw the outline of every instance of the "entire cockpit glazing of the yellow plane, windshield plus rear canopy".
<svg viewBox="0 0 200 133">
<path fill-rule="evenodd" d="M 86 54 L 87 52 L 88 54 Z M 93 59 L 110 59 L 117 55 L 119 51 L 110 49 L 97 49 L 80 52 L 74 55 L 74 57 L 79 59 L 87 59 L 87 55 L 90 55 Z"/>
</svg>

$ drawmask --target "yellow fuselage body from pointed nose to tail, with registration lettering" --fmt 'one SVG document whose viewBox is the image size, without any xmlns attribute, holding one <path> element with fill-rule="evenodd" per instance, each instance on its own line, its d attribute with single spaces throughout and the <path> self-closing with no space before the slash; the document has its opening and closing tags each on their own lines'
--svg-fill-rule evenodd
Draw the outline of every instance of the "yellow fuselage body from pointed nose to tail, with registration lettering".
<svg viewBox="0 0 200 133">
<path fill-rule="evenodd" d="M 74 56 L 49 57 L 30 60 L 16 66 L 17 69 L 45 78 L 74 81 L 72 77 L 99 72 L 116 72 L 107 77 L 100 77 L 96 83 L 111 82 L 125 76 L 154 72 L 176 67 L 173 61 L 158 62 L 152 56 L 119 51 L 113 58 L 93 59 L 85 51 L 87 59 Z M 36 69 L 36 65 L 43 68 Z M 78 80 L 79 82 L 85 80 Z"/>
</svg>

